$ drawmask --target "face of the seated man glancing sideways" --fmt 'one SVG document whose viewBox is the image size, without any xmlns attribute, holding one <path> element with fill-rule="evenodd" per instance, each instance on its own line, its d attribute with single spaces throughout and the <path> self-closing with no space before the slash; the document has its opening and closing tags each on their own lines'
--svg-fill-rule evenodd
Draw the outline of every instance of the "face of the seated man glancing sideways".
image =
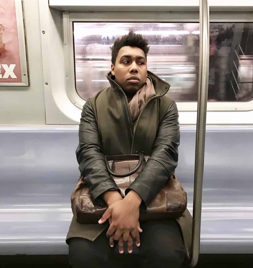
<svg viewBox="0 0 253 268">
<path fill-rule="evenodd" d="M 118 52 L 115 65 L 111 65 L 115 81 L 126 93 L 138 91 L 147 79 L 147 62 L 139 47 L 124 46 Z"/>
</svg>

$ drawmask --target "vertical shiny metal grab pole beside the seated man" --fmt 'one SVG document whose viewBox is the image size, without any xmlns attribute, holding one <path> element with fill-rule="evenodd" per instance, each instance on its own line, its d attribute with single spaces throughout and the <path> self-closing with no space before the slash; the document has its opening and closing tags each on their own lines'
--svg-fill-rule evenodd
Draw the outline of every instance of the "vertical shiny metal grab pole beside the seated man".
<svg viewBox="0 0 253 268">
<path fill-rule="evenodd" d="M 209 3 L 199 0 L 199 89 L 195 149 L 194 197 L 192 222 L 192 249 L 190 267 L 195 267 L 199 259 L 200 222 L 204 170 L 204 150 L 206 133 L 206 108 L 209 75 Z"/>
</svg>

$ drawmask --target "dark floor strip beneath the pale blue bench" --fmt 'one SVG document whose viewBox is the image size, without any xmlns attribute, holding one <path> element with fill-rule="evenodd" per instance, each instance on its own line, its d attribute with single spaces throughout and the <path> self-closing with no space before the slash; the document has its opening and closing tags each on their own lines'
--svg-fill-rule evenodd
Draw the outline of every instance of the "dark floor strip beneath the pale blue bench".
<svg viewBox="0 0 253 268">
<path fill-rule="evenodd" d="M 0 255 L 1 268 L 71 268 L 67 255 Z M 85 267 L 85 266 L 84 266 Z M 184 266 L 188 267 L 187 265 Z M 253 254 L 200 254 L 196 268 L 253 268 Z M 80 267 L 82 268 L 82 267 Z M 102 267 L 99 267 L 102 268 Z M 129 267 L 131 268 L 131 267 Z M 162 267 L 166 268 L 166 267 Z"/>
</svg>

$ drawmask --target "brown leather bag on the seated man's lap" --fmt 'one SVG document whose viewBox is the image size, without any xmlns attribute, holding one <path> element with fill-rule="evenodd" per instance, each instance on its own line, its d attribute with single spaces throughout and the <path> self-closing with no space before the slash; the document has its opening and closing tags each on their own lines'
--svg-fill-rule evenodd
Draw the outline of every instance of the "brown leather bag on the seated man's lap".
<svg viewBox="0 0 253 268">
<path fill-rule="evenodd" d="M 138 152 L 138 155 L 105 156 L 107 170 L 116 182 L 123 198 L 125 197 L 125 189 L 142 171 L 142 167 L 148 158 L 149 156 L 143 156 L 141 152 Z M 173 173 L 148 207 L 144 209 L 140 207 L 139 221 L 178 218 L 183 214 L 186 207 L 187 194 Z M 107 205 L 94 204 L 85 179 L 80 176 L 71 195 L 71 208 L 77 222 L 95 224 L 105 213 Z"/>
</svg>

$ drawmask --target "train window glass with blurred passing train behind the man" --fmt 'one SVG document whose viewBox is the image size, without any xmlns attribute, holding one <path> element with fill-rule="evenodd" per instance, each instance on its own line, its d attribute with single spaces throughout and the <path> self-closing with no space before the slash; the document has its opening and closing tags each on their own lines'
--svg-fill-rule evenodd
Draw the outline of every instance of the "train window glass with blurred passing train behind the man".
<svg viewBox="0 0 253 268">
<path fill-rule="evenodd" d="M 176 102 L 197 101 L 198 23 L 73 23 L 76 90 L 87 99 L 109 86 L 114 40 L 129 29 L 148 38 L 148 70 L 169 82 Z M 253 99 L 252 23 L 210 24 L 209 101 Z"/>
</svg>

